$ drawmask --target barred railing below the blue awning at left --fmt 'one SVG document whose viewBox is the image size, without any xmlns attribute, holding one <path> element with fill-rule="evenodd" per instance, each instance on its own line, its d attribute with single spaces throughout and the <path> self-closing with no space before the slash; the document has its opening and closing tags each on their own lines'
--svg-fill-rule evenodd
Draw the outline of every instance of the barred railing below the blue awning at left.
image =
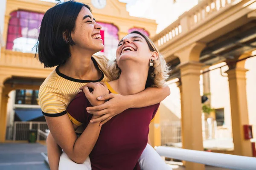
<svg viewBox="0 0 256 170">
<path fill-rule="evenodd" d="M 13 126 L 13 138 L 14 141 L 19 140 L 28 140 L 29 139 L 29 130 L 35 129 L 38 131 L 37 140 L 46 140 L 42 136 L 41 132 L 44 132 L 48 129 L 46 122 L 14 122 Z"/>
</svg>

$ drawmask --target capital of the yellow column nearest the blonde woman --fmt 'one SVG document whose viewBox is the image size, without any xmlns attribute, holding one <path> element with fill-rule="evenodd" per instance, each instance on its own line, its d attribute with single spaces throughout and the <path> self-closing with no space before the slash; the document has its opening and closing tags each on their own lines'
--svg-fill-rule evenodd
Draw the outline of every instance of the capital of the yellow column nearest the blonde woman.
<svg viewBox="0 0 256 170">
<path fill-rule="evenodd" d="M 180 75 L 185 76 L 188 74 L 200 75 L 201 69 L 204 64 L 201 62 L 189 61 L 185 63 L 181 63 L 177 66 L 180 69 Z"/>
</svg>

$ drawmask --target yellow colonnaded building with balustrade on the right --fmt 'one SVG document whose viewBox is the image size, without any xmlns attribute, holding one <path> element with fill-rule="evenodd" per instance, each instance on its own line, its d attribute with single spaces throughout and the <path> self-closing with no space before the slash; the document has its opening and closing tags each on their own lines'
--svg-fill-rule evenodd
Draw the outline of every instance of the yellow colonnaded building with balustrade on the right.
<svg viewBox="0 0 256 170">
<path fill-rule="evenodd" d="M 252 156 L 252 144 L 250 139 L 245 137 L 246 134 L 250 135 L 250 132 L 248 133 L 246 126 L 244 130 L 244 125 L 252 123 L 249 121 L 247 103 L 255 103 L 255 100 L 253 101 L 252 97 L 247 98 L 249 90 L 253 89 L 246 89 L 248 70 L 245 68 L 245 62 L 249 58 L 253 59 L 252 51 L 256 50 L 255 18 L 256 0 L 202 0 L 153 37 L 166 61 L 172 64 L 170 80 L 177 78 L 177 86 L 180 89 L 183 148 L 204 149 L 201 95 L 212 92 L 211 99 L 218 96 L 218 99 L 214 100 L 219 102 L 223 102 L 228 94 L 230 102 L 224 102 L 230 104 L 230 112 L 227 113 L 231 117 L 233 154 Z M 224 84 L 218 82 L 218 78 L 214 78 L 211 71 L 221 62 L 227 65 L 226 68 L 220 68 L 220 65 L 218 68 L 218 72 L 226 76 Z M 200 77 L 203 84 L 200 83 Z M 226 88 L 226 85 L 229 88 Z M 203 91 L 200 91 L 200 86 L 204 87 Z M 214 86 L 222 89 L 216 93 Z M 223 91 L 225 93 L 222 93 Z M 219 119 L 223 119 L 223 103 L 222 106 L 215 105 L 212 100 L 210 103 L 220 115 Z M 166 108 L 163 110 L 168 111 Z M 255 115 L 255 109 L 252 110 Z M 219 120 L 218 123 L 223 122 Z M 191 162 L 186 162 L 186 167 L 189 170 L 204 169 L 202 164 Z"/>
</svg>

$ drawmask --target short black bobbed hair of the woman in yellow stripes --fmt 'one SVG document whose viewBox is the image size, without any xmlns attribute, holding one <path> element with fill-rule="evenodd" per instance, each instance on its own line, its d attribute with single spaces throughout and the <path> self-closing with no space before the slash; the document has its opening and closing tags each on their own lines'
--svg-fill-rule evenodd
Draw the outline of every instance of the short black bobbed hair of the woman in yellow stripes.
<svg viewBox="0 0 256 170">
<path fill-rule="evenodd" d="M 75 45 L 71 32 L 83 6 L 91 11 L 90 6 L 70 0 L 58 3 L 44 14 L 35 57 L 38 56 L 45 68 L 64 64 L 70 57 L 69 45 Z"/>
</svg>

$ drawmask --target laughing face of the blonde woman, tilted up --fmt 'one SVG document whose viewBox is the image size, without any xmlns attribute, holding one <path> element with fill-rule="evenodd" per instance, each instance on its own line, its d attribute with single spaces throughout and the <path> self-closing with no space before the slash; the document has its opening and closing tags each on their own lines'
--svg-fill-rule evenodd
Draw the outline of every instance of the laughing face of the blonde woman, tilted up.
<svg viewBox="0 0 256 170">
<path fill-rule="evenodd" d="M 119 42 L 116 50 L 116 62 L 119 67 L 125 60 L 148 67 L 151 56 L 152 51 L 149 50 L 145 38 L 140 34 L 128 34 Z"/>
</svg>

